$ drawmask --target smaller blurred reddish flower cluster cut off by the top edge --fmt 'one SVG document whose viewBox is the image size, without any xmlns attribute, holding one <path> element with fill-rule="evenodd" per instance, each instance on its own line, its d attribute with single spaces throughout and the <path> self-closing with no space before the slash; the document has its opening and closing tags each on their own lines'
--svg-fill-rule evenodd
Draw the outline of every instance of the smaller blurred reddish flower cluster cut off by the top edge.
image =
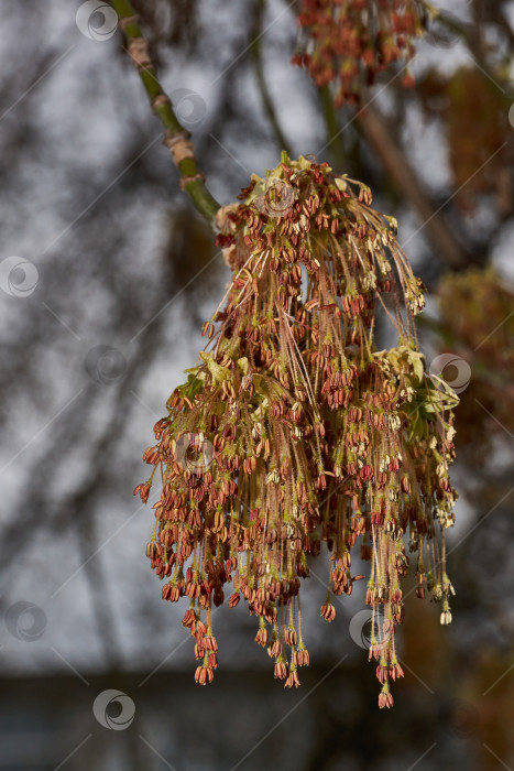
<svg viewBox="0 0 514 771">
<path fill-rule="evenodd" d="M 336 84 L 336 107 L 358 104 L 362 87 L 396 62 L 414 55 L 433 10 L 424 0 L 303 0 L 303 31 L 293 63 L 317 86 Z M 404 85 L 412 85 L 408 73 Z"/>
</svg>

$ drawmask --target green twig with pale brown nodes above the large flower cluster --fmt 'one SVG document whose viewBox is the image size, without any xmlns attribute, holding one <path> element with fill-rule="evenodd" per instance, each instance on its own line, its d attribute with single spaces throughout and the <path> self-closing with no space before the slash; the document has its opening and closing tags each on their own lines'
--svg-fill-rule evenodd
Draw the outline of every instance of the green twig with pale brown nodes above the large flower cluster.
<svg viewBox="0 0 514 771">
<path fill-rule="evenodd" d="M 198 169 L 190 133 L 181 126 L 169 97 L 164 93 L 155 75 L 150 58 L 149 45 L 139 25 L 139 17 L 130 0 L 111 0 L 127 39 L 128 53 L 138 68 L 141 82 L 152 105 L 152 109 L 164 127 L 164 144 L 169 149 L 181 175 L 181 187 L 185 189 L 196 208 L 210 222 L 220 208 L 205 184 L 205 177 Z"/>
</svg>

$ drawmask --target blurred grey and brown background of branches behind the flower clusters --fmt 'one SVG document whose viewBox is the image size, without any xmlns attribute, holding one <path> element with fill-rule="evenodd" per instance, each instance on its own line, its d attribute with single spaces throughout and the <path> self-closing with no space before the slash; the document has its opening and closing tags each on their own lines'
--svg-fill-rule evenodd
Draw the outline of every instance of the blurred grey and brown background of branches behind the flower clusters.
<svg viewBox="0 0 514 771">
<path fill-rule="evenodd" d="M 427 363 L 451 354 L 471 372 L 457 411 L 453 623 L 407 600 L 406 676 L 383 715 L 349 634 L 363 598 L 356 588 L 327 627 L 313 574 L 302 689 L 261 676 L 253 623 L 225 608 L 216 684 L 194 686 L 183 609 L 161 601 L 144 556 L 152 513 L 131 492 L 228 269 L 119 34 L 81 34 L 78 2 L 6 3 L 0 769 L 511 768 L 514 3 L 437 3 L 414 87 L 384 74 L 361 111 L 335 110 L 291 66 L 299 2 L 134 4 L 218 200 L 287 145 L 362 180 L 398 219 L 428 289 Z M 21 268 L 6 279 L 11 256 L 39 274 L 24 296 Z M 37 639 L 23 631 L 30 613 L 18 637 L 8 623 L 22 600 L 44 611 Z M 94 718 L 108 687 L 135 702 L 125 731 Z"/>
</svg>

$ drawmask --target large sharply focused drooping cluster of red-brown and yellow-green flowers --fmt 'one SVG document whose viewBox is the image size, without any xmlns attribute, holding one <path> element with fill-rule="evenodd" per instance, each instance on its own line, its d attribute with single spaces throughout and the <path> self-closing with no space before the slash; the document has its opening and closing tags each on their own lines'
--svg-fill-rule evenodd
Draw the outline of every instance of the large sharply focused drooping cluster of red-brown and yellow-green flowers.
<svg viewBox="0 0 514 771">
<path fill-rule="evenodd" d="M 441 622 L 451 620 L 445 530 L 457 400 L 424 372 L 412 321 L 422 285 L 365 186 L 284 155 L 241 197 L 220 211 L 233 276 L 204 327 L 209 350 L 144 454 L 154 471 L 135 491 L 147 499 L 156 468 L 163 486 L 147 555 L 166 580 L 163 598 L 189 598 L 183 623 L 201 662 L 197 682 L 217 665 L 212 606 L 242 597 L 275 677 L 293 686 L 309 663 L 299 600 L 308 563 L 328 558 L 320 615 L 331 621 L 333 595 L 364 577 L 352 571 L 359 544 L 371 562 L 370 659 L 380 705 L 391 706 L 404 536 L 416 594 L 441 600 Z M 390 350 L 374 343 L 378 308 L 397 329 Z"/>
</svg>

